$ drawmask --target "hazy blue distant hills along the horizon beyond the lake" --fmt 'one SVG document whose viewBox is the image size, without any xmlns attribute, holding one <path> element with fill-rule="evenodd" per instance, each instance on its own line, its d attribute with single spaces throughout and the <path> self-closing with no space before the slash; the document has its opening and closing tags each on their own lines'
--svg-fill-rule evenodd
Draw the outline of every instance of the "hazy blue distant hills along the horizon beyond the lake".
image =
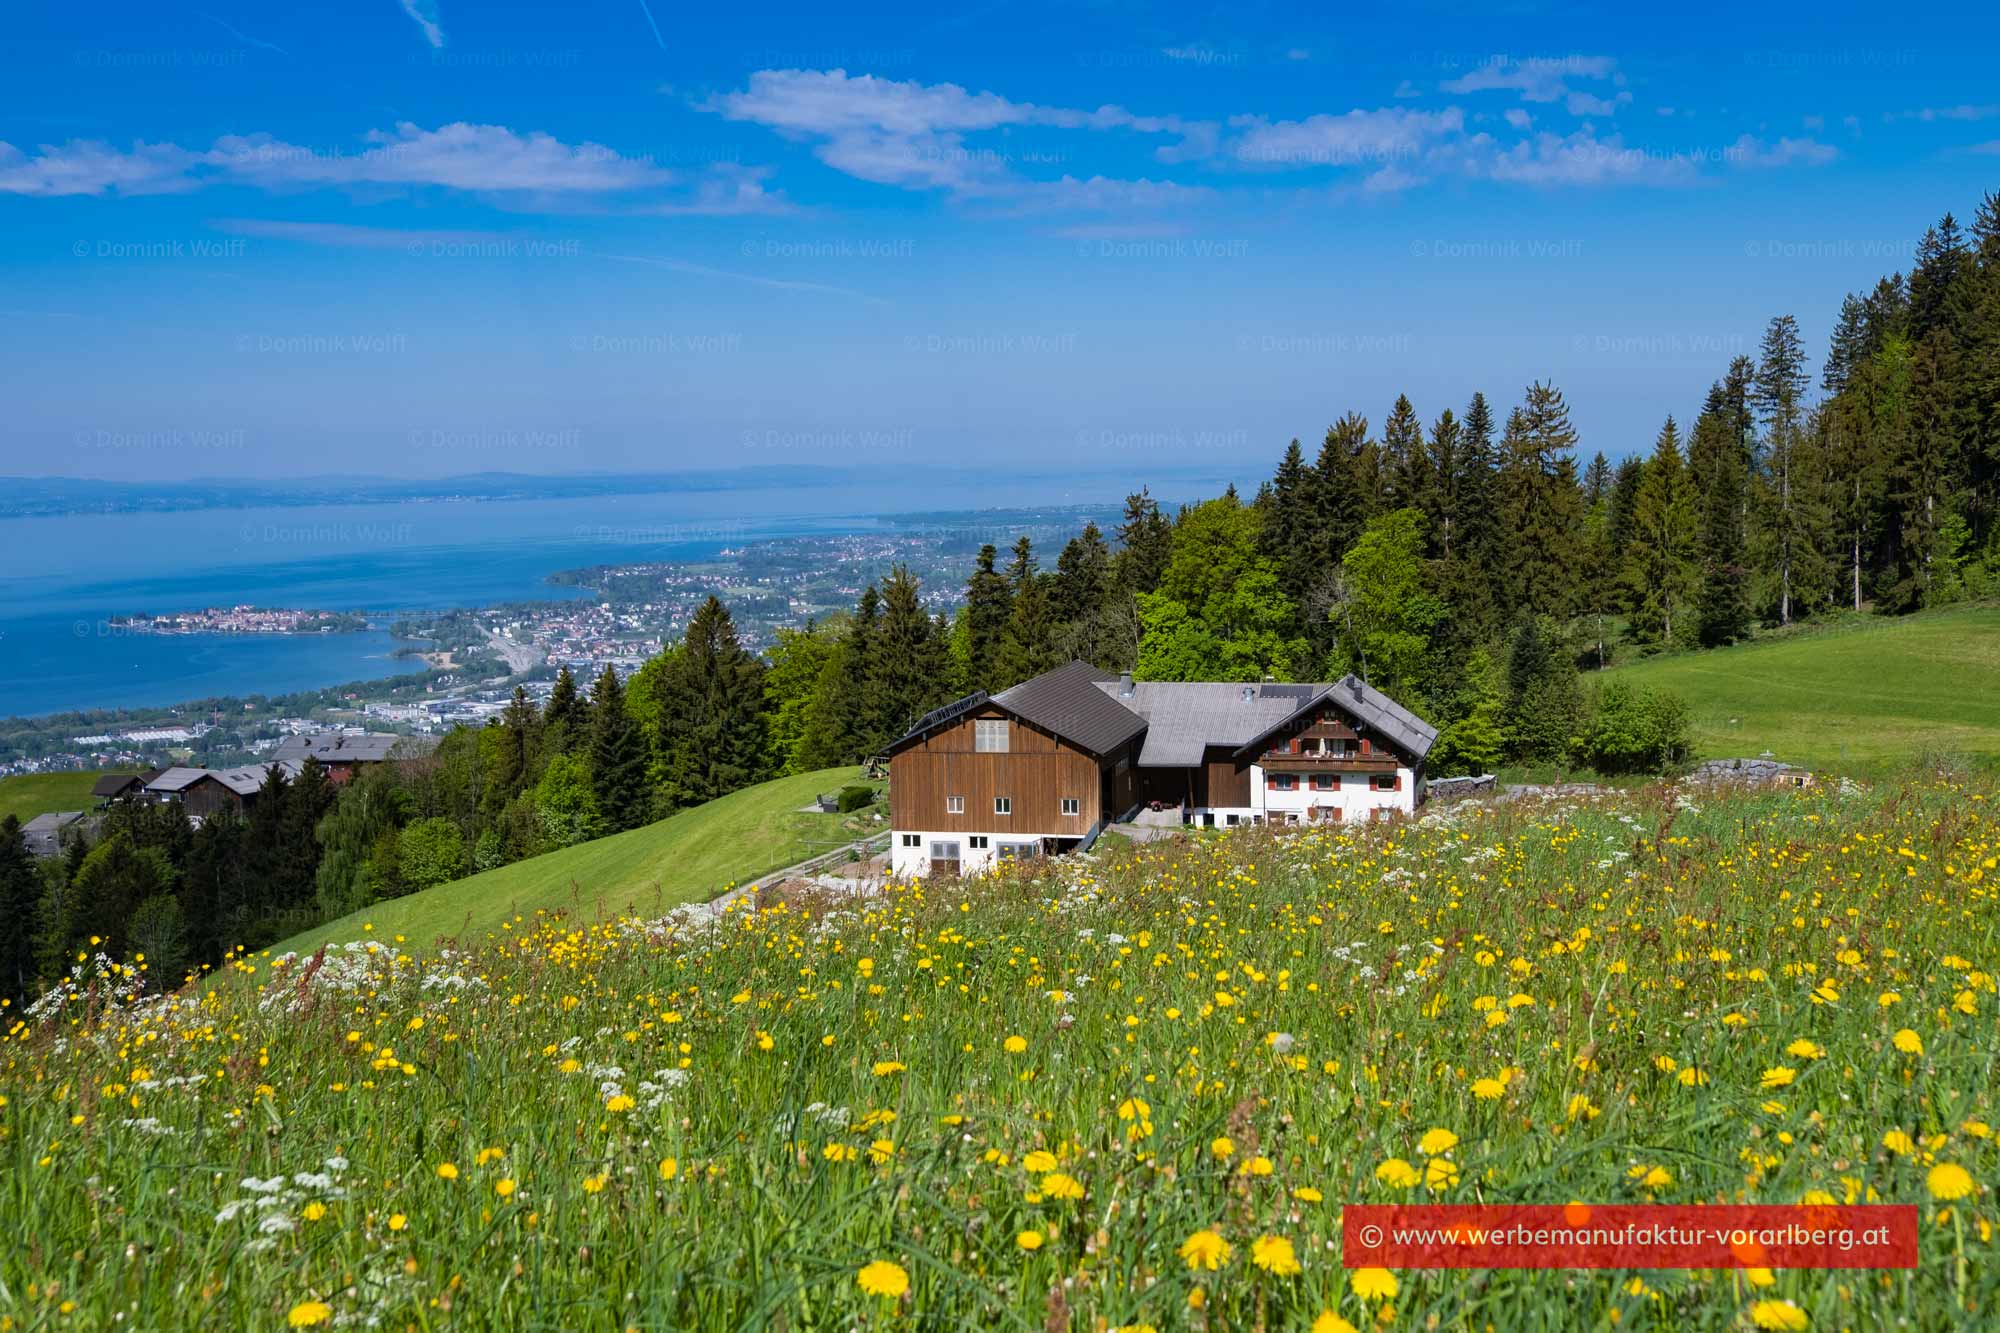
<svg viewBox="0 0 2000 1333">
<path fill-rule="evenodd" d="M 1112 468 L 1090 472 L 1056 470 L 1016 472 L 1014 480 L 1046 474 L 1052 482 L 1074 482 L 1080 476 L 1104 476 Z M 138 514 L 192 508 L 292 508 L 308 504 L 408 504 L 452 500 L 562 500 L 600 494 L 670 494 L 772 490 L 798 486 L 854 486 L 872 478 L 964 476 L 964 468 L 946 466 L 762 466 L 710 468 L 682 472 L 574 472 L 542 476 L 534 472 L 468 472 L 430 480 L 394 476 L 298 476 L 288 480 L 202 478 L 186 482 L 118 482 L 80 476 L 0 476 L 0 518 L 34 518 L 54 514 Z M 1208 480 L 1214 468 L 1150 468 L 1148 480 L 1194 478 Z M 1226 478 L 1218 478 L 1220 484 Z M 1134 488 L 1138 480 L 1132 482 Z"/>
</svg>

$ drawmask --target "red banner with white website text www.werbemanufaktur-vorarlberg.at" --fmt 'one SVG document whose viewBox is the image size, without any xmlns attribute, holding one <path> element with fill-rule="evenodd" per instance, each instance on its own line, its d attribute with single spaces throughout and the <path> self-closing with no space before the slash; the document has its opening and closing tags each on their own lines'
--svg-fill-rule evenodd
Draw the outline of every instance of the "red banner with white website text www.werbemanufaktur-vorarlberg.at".
<svg viewBox="0 0 2000 1333">
<path fill-rule="evenodd" d="M 1350 1203 L 1350 1269 L 1914 1269 L 1914 1203 Z"/>
</svg>

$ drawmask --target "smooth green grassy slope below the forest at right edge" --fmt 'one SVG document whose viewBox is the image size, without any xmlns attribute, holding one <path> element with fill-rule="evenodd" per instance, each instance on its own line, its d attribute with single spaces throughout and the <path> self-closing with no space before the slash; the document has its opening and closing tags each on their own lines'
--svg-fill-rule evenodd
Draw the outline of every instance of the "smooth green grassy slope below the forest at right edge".
<svg viewBox="0 0 2000 1333">
<path fill-rule="evenodd" d="M 1678 691 L 1704 759 L 1882 775 L 1924 749 L 2000 763 L 2000 606 L 1852 618 L 1718 652 L 1614 666 Z"/>
</svg>

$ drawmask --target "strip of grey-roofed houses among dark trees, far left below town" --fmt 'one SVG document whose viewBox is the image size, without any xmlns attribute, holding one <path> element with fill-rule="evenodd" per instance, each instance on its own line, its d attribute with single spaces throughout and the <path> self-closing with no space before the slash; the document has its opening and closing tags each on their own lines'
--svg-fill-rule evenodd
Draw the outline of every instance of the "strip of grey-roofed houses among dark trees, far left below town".
<svg viewBox="0 0 2000 1333">
<path fill-rule="evenodd" d="M 334 787 L 350 783 L 366 765 L 390 759 L 418 759 L 436 747 L 434 737 L 394 737 L 394 735 L 342 735 L 324 733 L 312 737 L 286 737 L 278 743 L 272 759 L 236 769 L 190 769 L 174 765 L 170 769 L 148 769 L 144 773 L 104 773 L 90 789 L 96 801 L 94 811 L 56 811 L 36 815 L 22 825 L 28 851 L 36 857 L 54 857 L 62 851 L 66 837 L 94 833 L 102 811 L 118 801 L 150 801 L 178 805 L 188 819 L 200 823 L 216 811 L 242 815 L 264 791 L 272 769 L 296 779 L 314 759 L 326 771 Z"/>
</svg>

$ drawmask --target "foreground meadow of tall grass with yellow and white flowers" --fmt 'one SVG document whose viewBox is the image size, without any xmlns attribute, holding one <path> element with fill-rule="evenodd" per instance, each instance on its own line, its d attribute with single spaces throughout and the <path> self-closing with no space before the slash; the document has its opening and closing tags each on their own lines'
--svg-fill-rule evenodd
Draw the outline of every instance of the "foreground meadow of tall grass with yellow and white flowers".
<svg viewBox="0 0 2000 1333">
<path fill-rule="evenodd" d="M 0 1331 L 2000 1319 L 1996 791 L 1232 831 L 6 1017 Z M 1918 1203 L 1914 1271 L 1348 1271 L 1344 1203 Z"/>
</svg>

